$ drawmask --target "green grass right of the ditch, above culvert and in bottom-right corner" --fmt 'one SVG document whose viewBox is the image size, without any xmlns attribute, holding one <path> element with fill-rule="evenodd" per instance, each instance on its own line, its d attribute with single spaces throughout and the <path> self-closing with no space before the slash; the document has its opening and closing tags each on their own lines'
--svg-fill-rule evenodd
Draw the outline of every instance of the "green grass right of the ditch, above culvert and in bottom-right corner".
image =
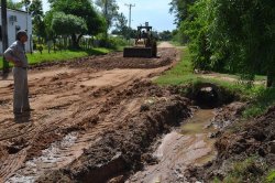
<svg viewBox="0 0 275 183">
<path fill-rule="evenodd" d="M 238 78 L 237 75 L 222 74 L 221 76 Z M 260 76 L 256 79 L 262 80 L 264 78 Z M 158 85 L 191 85 L 191 87 L 196 87 L 197 84 L 202 82 L 217 84 L 230 93 L 239 95 L 242 100 L 249 101 L 249 106 L 243 112 L 244 120 L 242 121 L 250 121 L 249 119 L 245 120 L 245 118 L 253 118 L 263 115 L 271 106 L 275 105 L 275 88 L 265 88 L 263 85 L 254 85 L 251 87 L 239 79 L 231 79 L 231 82 L 219 79 L 218 77 L 210 79 L 202 78 L 201 74 L 194 74 L 191 57 L 187 47 L 183 49 L 182 61 L 155 80 Z M 233 128 L 241 129 L 244 123 L 242 122 L 240 126 L 237 125 Z M 229 170 L 226 177 L 222 181 L 216 177 L 212 182 L 275 183 L 275 170 L 271 170 L 271 168 L 266 166 L 258 157 L 250 157 L 243 161 L 232 162 L 232 168 Z"/>
</svg>

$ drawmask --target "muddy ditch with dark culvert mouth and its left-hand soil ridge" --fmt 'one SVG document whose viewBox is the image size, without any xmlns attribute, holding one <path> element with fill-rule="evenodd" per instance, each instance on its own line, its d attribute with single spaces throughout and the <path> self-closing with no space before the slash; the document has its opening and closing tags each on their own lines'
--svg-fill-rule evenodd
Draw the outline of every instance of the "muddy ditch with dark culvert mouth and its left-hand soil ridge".
<svg viewBox="0 0 275 183">
<path fill-rule="evenodd" d="M 215 85 L 204 84 L 193 90 L 190 98 L 213 108 L 228 97 Z M 185 181 L 184 170 L 188 165 L 204 164 L 216 154 L 215 140 L 209 139 L 213 129 L 207 128 L 213 116 L 213 109 L 194 109 L 189 99 L 178 95 L 155 97 L 125 121 L 113 122 L 112 129 L 90 142 L 72 163 L 47 171 L 36 181 Z M 161 140 L 152 146 L 156 139 Z"/>
</svg>

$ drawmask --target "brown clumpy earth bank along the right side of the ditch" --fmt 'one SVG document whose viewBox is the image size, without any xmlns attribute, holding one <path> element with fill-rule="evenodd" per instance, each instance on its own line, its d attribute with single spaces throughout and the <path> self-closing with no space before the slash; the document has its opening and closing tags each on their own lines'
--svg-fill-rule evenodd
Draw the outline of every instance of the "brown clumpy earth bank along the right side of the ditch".
<svg viewBox="0 0 275 183">
<path fill-rule="evenodd" d="M 215 147 L 217 158 L 204 166 L 189 166 L 188 182 L 223 180 L 234 170 L 234 163 L 250 161 L 235 169 L 243 171 L 241 182 L 263 182 L 267 171 L 275 168 L 275 107 L 254 120 L 239 120 L 245 105 L 233 103 L 219 111 L 212 122 L 220 131 Z"/>
</svg>

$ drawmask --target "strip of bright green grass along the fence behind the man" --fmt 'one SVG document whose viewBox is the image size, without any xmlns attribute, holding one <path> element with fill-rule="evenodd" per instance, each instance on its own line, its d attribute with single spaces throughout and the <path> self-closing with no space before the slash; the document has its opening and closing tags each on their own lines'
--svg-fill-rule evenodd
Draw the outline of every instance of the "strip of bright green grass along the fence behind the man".
<svg viewBox="0 0 275 183">
<path fill-rule="evenodd" d="M 47 51 L 43 51 L 41 54 L 40 52 L 34 52 L 33 54 L 28 53 L 28 60 L 29 64 L 38 64 L 43 62 L 53 62 L 53 61 L 67 61 L 72 58 L 77 58 L 77 57 L 85 57 L 89 55 L 102 55 L 109 53 L 110 50 L 107 49 L 91 49 L 91 50 L 66 50 L 66 51 L 51 51 L 51 53 L 47 53 Z M 0 69 L 2 69 L 2 57 L 0 58 Z M 11 64 L 10 64 L 11 66 Z"/>
</svg>

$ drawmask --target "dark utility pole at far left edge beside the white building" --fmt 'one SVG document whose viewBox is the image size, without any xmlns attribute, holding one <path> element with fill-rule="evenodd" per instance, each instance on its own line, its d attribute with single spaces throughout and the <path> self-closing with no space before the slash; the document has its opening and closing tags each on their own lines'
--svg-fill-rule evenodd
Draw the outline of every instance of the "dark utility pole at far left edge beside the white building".
<svg viewBox="0 0 275 183">
<path fill-rule="evenodd" d="M 1 18 L 2 18 L 2 52 L 8 49 L 8 25 L 7 25 L 7 0 L 1 0 Z M 3 77 L 9 73 L 9 63 L 3 56 Z"/>
</svg>

